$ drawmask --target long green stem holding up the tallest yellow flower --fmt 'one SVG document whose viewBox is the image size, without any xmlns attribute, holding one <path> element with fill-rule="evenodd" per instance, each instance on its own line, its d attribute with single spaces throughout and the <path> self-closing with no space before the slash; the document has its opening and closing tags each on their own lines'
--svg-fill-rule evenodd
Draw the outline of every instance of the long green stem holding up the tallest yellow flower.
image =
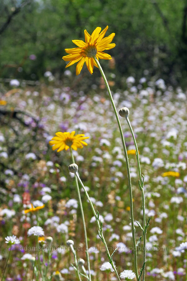
<svg viewBox="0 0 187 281">
<path fill-rule="evenodd" d="M 107 87 L 108 95 L 109 95 L 110 101 L 111 101 L 112 106 L 113 106 L 113 110 L 114 110 L 114 113 L 115 113 L 115 116 L 116 116 L 116 119 L 117 119 L 117 124 L 118 124 L 118 127 L 119 127 L 121 139 L 122 139 L 122 145 L 123 145 L 123 150 L 124 150 L 125 160 L 126 160 L 126 166 L 127 166 L 128 186 L 129 186 L 129 195 L 130 195 L 131 227 L 132 227 L 132 241 L 133 241 L 133 252 L 134 252 L 134 269 L 135 269 L 136 279 L 138 281 L 139 277 L 138 277 L 138 269 L 137 269 L 137 248 L 136 248 L 135 227 L 134 227 L 134 217 L 133 217 L 132 186 L 131 186 L 130 167 L 129 167 L 128 156 L 127 156 L 127 148 L 126 148 L 126 145 L 125 145 L 122 127 L 121 127 L 121 124 L 120 124 L 120 121 L 119 121 L 119 117 L 118 117 L 118 114 L 117 114 L 116 106 L 115 106 L 114 101 L 113 101 L 113 97 L 112 97 L 112 94 L 111 94 L 111 91 L 110 91 L 110 87 L 108 85 L 108 81 L 107 81 L 107 79 L 104 75 L 103 69 L 102 69 L 100 63 L 98 62 L 97 58 L 93 57 L 93 59 L 96 62 L 97 66 L 98 66 L 98 68 L 101 72 L 101 75 L 104 79 L 105 85 Z"/>
</svg>

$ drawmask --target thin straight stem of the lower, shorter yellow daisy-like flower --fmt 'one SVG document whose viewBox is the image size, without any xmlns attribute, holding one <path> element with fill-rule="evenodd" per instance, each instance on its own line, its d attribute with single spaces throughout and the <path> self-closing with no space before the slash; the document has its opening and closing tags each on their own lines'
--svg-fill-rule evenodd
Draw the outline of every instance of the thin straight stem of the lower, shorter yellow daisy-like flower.
<svg viewBox="0 0 187 281">
<path fill-rule="evenodd" d="M 71 159 L 72 159 L 73 163 L 75 163 L 71 147 L 70 147 L 70 153 L 71 153 Z M 89 252 L 88 252 L 88 239 L 87 239 L 87 233 L 86 233 L 86 224 L 85 224 L 85 219 L 84 219 L 84 211 L 83 211 L 82 200 L 81 200 L 81 197 L 80 197 L 79 184 L 78 184 L 78 180 L 77 180 L 76 177 L 75 177 L 75 181 L 76 181 L 77 193 L 78 193 L 78 197 L 79 197 L 80 211 L 81 211 L 82 220 L 83 220 L 84 237 L 85 237 L 85 245 L 86 245 L 86 258 L 87 258 L 88 272 L 89 272 L 89 281 L 91 281 L 91 270 L 90 270 L 90 261 L 89 261 Z"/>
</svg>

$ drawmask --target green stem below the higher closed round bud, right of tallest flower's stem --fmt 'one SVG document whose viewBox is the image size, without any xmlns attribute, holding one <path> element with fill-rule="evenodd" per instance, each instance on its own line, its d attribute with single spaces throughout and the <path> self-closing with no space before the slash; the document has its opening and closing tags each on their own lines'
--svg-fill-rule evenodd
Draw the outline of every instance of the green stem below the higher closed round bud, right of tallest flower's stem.
<svg viewBox="0 0 187 281">
<path fill-rule="evenodd" d="M 132 138 L 135 144 L 135 148 L 136 148 L 136 156 L 137 156 L 137 164 L 138 164 L 138 173 L 139 173 L 139 178 L 140 178 L 140 185 L 141 185 L 141 196 L 142 196 L 142 207 L 143 207 L 143 247 L 144 247 L 144 251 L 143 251 L 143 263 L 146 262 L 146 233 L 147 230 L 145 228 L 146 226 L 146 214 L 145 214 L 145 196 L 144 196 L 144 190 L 143 190 L 143 181 L 142 181 L 142 176 L 141 176 L 141 168 L 140 168 L 140 159 L 139 159 L 139 153 L 138 153 L 138 146 L 137 146 L 137 142 L 134 136 L 134 132 L 132 130 L 132 126 L 131 123 L 129 121 L 128 116 L 125 117 L 127 120 L 127 124 L 129 126 L 129 129 L 131 131 L 132 134 Z M 145 269 L 146 267 L 144 266 L 143 269 L 143 281 L 145 280 Z"/>
</svg>

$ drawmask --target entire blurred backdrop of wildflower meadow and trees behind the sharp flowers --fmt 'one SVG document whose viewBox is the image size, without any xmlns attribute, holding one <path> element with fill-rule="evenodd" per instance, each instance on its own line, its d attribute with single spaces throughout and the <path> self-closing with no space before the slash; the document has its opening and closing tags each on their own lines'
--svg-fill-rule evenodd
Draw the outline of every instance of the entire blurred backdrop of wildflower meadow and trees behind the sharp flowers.
<svg viewBox="0 0 187 281">
<path fill-rule="evenodd" d="M 2 1 L 1 13 L 6 10 L 11 15 L 25 2 Z M 5 237 L 14 234 L 20 244 L 12 246 L 6 280 L 32 279 L 33 266 L 24 255 L 36 256 L 31 249 L 36 246 L 36 239 L 28 237 L 27 231 L 37 224 L 37 219 L 45 238 L 53 238 L 49 280 L 55 280 L 56 271 L 61 280 L 78 280 L 71 266 L 73 254 L 66 246 L 68 239 L 74 241 L 78 258 L 86 261 L 75 179 L 68 170 L 72 163 L 70 151 L 57 153 L 49 145 L 57 131 L 89 136 L 88 146 L 73 151 L 79 175 L 103 221 L 110 253 L 118 247 L 114 254 L 117 271 L 133 270 L 125 158 L 104 82 L 98 69 L 91 76 L 84 67 L 75 76 L 75 67 L 65 70 L 61 60 L 64 48 L 71 47 L 71 39 L 81 39 L 85 28 L 92 30 L 108 24 L 110 32 L 116 32 L 116 47 L 110 52 L 113 59 L 101 64 L 117 110 L 123 106 L 130 110 L 145 176 L 146 220 L 151 217 L 146 280 L 185 281 L 186 250 L 176 248 L 186 242 L 187 232 L 186 70 L 180 63 L 185 64 L 186 49 L 182 44 L 184 52 L 179 51 L 177 37 L 177 30 L 184 32 L 184 3 L 145 1 L 140 9 L 136 1 L 125 3 L 123 8 L 124 1 L 118 1 L 116 6 L 97 1 L 92 16 L 92 1 L 27 2 L 3 30 L 6 15 L 3 13 L 0 19 L 0 276 L 10 250 Z M 122 17 L 117 16 L 117 11 Z M 71 17 L 65 17 L 65 12 Z M 170 22 L 175 19 L 178 20 L 174 27 Z M 173 46 L 167 28 L 172 28 Z M 142 223 L 135 147 L 125 118 L 120 120 L 131 169 L 134 219 Z M 163 173 L 167 171 L 179 172 L 179 176 L 165 177 Z M 81 197 L 92 280 L 107 280 L 107 272 L 100 270 L 107 254 L 83 190 Z M 38 218 L 36 213 L 24 214 L 31 203 L 34 207 L 45 204 L 37 212 Z M 141 229 L 137 224 L 135 227 L 138 239 Z M 47 253 L 40 254 L 45 268 Z M 139 269 L 141 256 L 139 250 Z M 109 280 L 116 280 L 112 272 Z"/>
</svg>

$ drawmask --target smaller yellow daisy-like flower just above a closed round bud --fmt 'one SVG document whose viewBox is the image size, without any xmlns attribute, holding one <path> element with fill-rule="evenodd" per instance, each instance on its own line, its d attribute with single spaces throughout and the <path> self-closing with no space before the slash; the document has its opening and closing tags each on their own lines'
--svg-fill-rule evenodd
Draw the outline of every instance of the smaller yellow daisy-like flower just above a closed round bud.
<svg viewBox="0 0 187 281">
<path fill-rule="evenodd" d="M 70 147 L 73 150 L 77 150 L 77 148 L 83 148 L 83 145 L 88 145 L 84 140 L 89 137 L 85 137 L 84 134 L 75 135 L 75 131 L 73 132 L 57 132 L 55 137 L 49 142 L 52 146 L 52 150 L 58 148 L 57 152 L 65 149 L 68 150 Z"/>
</svg>

